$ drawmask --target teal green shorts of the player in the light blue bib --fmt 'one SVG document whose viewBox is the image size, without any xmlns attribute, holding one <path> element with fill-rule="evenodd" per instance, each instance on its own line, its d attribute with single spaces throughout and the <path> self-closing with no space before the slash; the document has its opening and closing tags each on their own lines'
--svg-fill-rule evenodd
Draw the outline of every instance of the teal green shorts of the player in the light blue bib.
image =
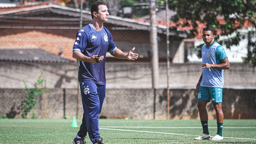
<svg viewBox="0 0 256 144">
<path fill-rule="evenodd" d="M 200 86 L 197 100 L 208 100 L 209 102 L 222 102 L 222 88 Z"/>
</svg>

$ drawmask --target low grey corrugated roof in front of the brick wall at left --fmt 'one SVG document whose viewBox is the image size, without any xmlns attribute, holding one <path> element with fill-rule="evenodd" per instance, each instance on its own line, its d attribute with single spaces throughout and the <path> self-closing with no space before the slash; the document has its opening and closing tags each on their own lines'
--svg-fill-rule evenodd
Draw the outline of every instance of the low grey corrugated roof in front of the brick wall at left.
<svg viewBox="0 0 256 144">
<path fill-rule="evenodd" d="M 71 63 L 69 59 L 62 58 L 43 49 L 0 49 L 0 61 L 12 62 L 46 62 Z"/>
</svg>

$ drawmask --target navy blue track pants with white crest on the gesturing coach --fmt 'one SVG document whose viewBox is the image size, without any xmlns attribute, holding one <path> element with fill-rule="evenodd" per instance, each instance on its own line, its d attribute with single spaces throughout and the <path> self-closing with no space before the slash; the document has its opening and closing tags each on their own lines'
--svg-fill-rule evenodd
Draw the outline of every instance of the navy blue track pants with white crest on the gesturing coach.
<svg viewBox="0 0 256 144">
<path fill-rule="evenodd" d="M 82 103 L 83 120 L 77 135 L 81 138 L 89 135 L 93 143 L 100 138 L 99 114 L 105 98 L 106 85 L 95 84 L 93 81 L 79 81 Z"/>
</svg>

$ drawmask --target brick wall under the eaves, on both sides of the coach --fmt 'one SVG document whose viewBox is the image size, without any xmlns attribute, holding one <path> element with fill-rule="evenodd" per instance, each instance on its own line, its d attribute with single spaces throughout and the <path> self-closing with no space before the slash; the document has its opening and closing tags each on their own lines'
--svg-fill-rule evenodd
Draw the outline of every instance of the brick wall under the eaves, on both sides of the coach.
<svg viewBox="0 0 256 144">
<path fill-rule="evenodd" d="M 1 25 L 1 23 L 0 23 Z M 148 57 L 151 51 L 149 32 L 142 30 L 110 30 L 114 43 L 123 52 L 129 52 L 136 47 L 136 53 L 141 57 Z M 29 28 L 0 28 L 0 49 L 12 48 L 41 48 L 63 57 L 72 58 L 72 48 L 77 29 L 29 29 Z M 177 56 L 180 41 L 171 41 L 170 58 Z M 62 47 L 62 51 L 61 48 Z M 166 57 L 165 37 L 159 35 L 159 58 Z"/>
</svg>

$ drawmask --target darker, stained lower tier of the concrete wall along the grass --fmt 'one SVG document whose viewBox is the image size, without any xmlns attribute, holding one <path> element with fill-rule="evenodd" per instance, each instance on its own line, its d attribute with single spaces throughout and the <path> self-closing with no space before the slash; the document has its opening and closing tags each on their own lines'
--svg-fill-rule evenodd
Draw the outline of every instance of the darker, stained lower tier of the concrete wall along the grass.
<svg viewBox="0 0 256 144">
<path fill-rule="evenodd" d="M 171 89 L 170 118 L 199 119 L 197 109 L 197 91 L 194 89 Z M 23 89 L 0 89 L 0 116 L 21 118 L 21 101 L 25 98 Z M 65 94 L 64 94 L 65 93 Z M 107 89 L 101 117 L 134 119 L 165 119 L 167 111 L 166 89 Z M 65 97 L 65 98 L 64 98 Z M 79 118 L 82 118 L 82 104 L 79 96 Z M 256 90 L 223 90 L 222 109 L 226 119 L 255 119 Z M 216 119 L 215 110 L 207 105 L 209 119 Z M 39 97 L 34 113 L 37 118 L 59 119 L 76 116 L 77 90 L 54 88 Z"/>
</svg>

